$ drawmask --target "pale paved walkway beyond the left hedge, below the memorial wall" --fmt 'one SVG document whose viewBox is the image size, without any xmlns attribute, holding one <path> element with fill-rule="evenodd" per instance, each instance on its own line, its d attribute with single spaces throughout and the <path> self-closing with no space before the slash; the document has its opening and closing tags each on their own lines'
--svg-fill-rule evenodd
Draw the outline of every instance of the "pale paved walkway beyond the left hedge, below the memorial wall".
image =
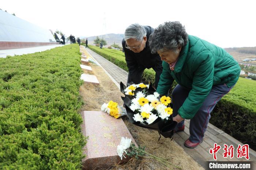
<svg viewBox="0 0 256 170">
<path fill-rule="evenodd" d="M 60 46 L 63 46 L 63 45 L 51 45 L 51 46 L 39 46 L 39 47 L 29 47 L 29 48 L 21 48 L 21 49 L 0 50 L 0 58 L 5 58 L 7 55 L 14 56 L 14 55 L 23 55 L 23 54 L 41 52 L 41 51 L 50 50 Z"/>
</svg>

